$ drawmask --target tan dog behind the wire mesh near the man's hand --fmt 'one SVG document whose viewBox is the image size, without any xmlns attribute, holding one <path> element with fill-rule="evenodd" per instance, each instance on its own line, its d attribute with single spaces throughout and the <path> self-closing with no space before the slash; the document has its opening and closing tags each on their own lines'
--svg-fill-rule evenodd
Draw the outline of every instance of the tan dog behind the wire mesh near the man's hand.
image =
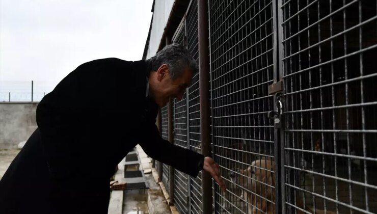
<svg viewBox="0 0 377 214">
<path fill-rule="evenodd" d="M 247 169 L 231 173 L 232 182 L 238 183 L 244 188 L 241 197 L 247 202 L 248 213 L 276 213 L 274 172 L 275 162 L 265 158 L 253 161 Z M 304 207 L 304 203 L 299 197 L 296 200 L 296 205 L 301 208 Z M 308 206 L 306 206 L 305 211 L 314 213 L 313 209 Z M 297 213 L 304 214 L 305 212 L 297 210 Z M 315 213 L 325 213 L 325 211 L 315 209 Z M 335 212 L 327 211 L 327 213 Z"/>
</svg>

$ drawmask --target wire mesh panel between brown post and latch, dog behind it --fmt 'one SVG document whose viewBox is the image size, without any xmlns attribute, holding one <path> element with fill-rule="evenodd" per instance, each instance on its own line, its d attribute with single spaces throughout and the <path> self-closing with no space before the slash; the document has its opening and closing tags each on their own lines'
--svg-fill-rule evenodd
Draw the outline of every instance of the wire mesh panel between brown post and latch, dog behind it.
<svg viewBox="0 0 377 214">
<path fill-rule="evenodd" d="M 274 213 L 272 1 L 209 1 L 215 210 Z"/>
</svg>

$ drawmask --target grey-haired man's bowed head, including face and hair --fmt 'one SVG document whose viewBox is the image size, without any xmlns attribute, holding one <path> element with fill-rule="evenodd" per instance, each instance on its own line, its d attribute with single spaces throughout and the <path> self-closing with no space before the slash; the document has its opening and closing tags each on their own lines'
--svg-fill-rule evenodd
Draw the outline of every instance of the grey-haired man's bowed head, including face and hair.
<svg viewBox="0 0 377 214">
<path fill-rule="evenodd" d="M 159 106 L 165 106 L 169 98 L 181 99 L 199 70 L 189 50 L 179 44 L 165 46 L 146 63 L 150 69 L 149 94 Z"/>
</svg>

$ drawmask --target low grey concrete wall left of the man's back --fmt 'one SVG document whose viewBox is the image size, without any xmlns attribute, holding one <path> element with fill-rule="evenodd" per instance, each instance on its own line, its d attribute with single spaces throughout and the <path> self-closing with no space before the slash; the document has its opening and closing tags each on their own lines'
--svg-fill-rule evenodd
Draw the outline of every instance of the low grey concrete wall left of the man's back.
<svg viewBox="0 0 377 214">
<path fill-rule="evenodd" d="M 0 149 L 17 148 L 37 128 L 38 102 L 0 102 Z"/>
</svg>

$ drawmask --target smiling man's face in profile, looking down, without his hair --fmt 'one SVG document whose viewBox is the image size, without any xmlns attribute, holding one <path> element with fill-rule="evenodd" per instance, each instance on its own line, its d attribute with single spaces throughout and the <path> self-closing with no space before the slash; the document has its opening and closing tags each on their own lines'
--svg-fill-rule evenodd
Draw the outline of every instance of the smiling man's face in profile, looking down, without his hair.
<svg viewBox="0 0 377 214">
<path fill-rule="evenodd" d="M 165 106 L 169 99 L 182 99 L 186 88 L 190 86 L 193 78 L 193 72 L 189 68 L 183 68 L 183 74 L 175 79 L 170 78 L 169 67 L 164 64 L 161 65 L 155 75 L 152 76 L 154 87 L 150 86 L 152 96 L 159 106 Z M 150 82 L 151 84 L 151 82 Z"/>
</svg>

